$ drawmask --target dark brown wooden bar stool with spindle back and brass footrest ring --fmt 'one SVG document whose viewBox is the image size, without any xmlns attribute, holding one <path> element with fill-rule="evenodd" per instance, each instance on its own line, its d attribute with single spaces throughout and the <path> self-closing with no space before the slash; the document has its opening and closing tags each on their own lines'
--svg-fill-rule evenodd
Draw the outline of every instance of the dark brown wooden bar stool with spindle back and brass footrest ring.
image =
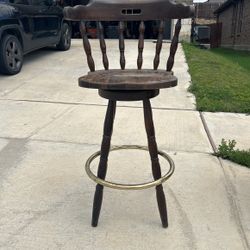
<svg viewBox="0 0 250 250">
<path fill-rule="evenodd" d="M 157 96 L 160 89 L 170 88 L 177 85 L 177 78 L 173 75 L 171 70 L 173 68 L 174 57 L 178 46 L 181 18 L 189 18 L 192 15 L 192 7 L 175 4 L 173 1 L 167 0 L 135 0 L 128 2 L 125 0 L 92 0 L 87 5 L 78 5 L 73 8 L 66 7 L 64 9 L 64 16 L 66 19 L 80 21 L 83 47 L 86 52 L 87 62 L 90 69 L 90 72 L 87 75 L 79 78 L 79 86 L 98 89 L 99 95 L 109 100 L 104 121 L 101 150 L 91 155 L 85 165 L 88 176 L 97 183 L 92 213 L 92 226 L 94 227 L 98 224 L 104 186 L 126 190 L 144 189 L 155 186 L 162 226 L 168 226 L 167 206 L 162 183 L 173 174 L 174 162 L 165 152 L 160 151 L 157 148 L 150 99 Z M 162 49 L 164 25 L 165 20 L 169 18 L 175 18 L 178 19 L 178 21 L 175 26 L 166 70 L 159 70 L 158 66 Z M 137 69 L 125 69 L 125 21 L 138 20 L 141 22 L 139 25 Z M 156 43 L 153 69 L 142 69 L 145 32 L 144 21 L 147 20 L 159 20 L 158 39 Z M 85 21 L 97 21 L 104 70 L 95 71 L 95 63 L 91 53 L 91 46 L 88 40 Z M 118 32 L 121 69 L 109 69 L 104 30 L 101 21 L 119 21 Z M 138 145 L 111 147 L 111 135 L 116 112 L 116 102 L 139 100 L 143 102 L 148 147 Z M 149 151 L 154 177 L 153 182 L 141 184 L 119 184 L 105 181 L 109 152 L 122 149 Z M 164 176 L 161 174 L 158 155 L 162 156 L 169 163 L 169 170 Z M 91 171 L 90 164 L 98 156 L 100 156 L 100 161 L 96 176 Z"/>
</svg>

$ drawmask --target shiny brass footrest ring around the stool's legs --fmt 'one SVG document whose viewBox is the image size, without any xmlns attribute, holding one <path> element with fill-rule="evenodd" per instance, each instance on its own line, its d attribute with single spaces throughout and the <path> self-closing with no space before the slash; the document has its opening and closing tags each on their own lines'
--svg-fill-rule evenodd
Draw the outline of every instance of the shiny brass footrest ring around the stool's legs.
<svg viewBox="0 0 250 250">
<path fill-rule="evenodd" d="M 110 151 L 116 151 L 116 150 L 121 150 L 121 149 L 138 149 L 138 150 L 148 151 L 148 147 L 138 146 L 138 145 L 113 146 L 113 147 L 111 147 Z M 160 156 L 162 156 L 164 159 L 166 159 L 168 161 L 168 163 L 169 163 L 169 170 L 168 170 L 168 172 L 164 176 L 162 176 L 161 178 L 159 178 L 159 179 L 157 179 L 155 181 L 141 183 L 141 184 L 120 184 L 120 183 L 114 183 L 114 182 L 109 182 L 109 181 L 105 181 L 105 180 L 103 180 L 101 178 L 98 178 L 95 174 L 93 174 L 93 172 L 90 169 L 91 162 L 95 158 L 97 158 L 100 154 L 101 154 L 101 151 L 98 151 L 98 152 L 92 154 L 88 158 L 88 160 L 86 161 L 86 164 L 85 164 L 85 170 L 87 172 L 87 175 L 94 182 L 96 182 L 96 183 L 98 183 L 98 184 L 100 184 L 102 186 L 110 187 L 110 188 L 114 188 L 114 189 L 139 190 L 139 189 L 145 189 L 145 188 L 155 187 L 155 186 L 158 186 L 158 185 L 162 184 L 167 179 L 169 179 L 170 176 L 174 173 L 174 169 L 175 169 L 174 161 L 172 160 L 172 158 L 168 154 L 166 154 L 165 152 L 158 150 L 158 154 Z"/>
</svg>

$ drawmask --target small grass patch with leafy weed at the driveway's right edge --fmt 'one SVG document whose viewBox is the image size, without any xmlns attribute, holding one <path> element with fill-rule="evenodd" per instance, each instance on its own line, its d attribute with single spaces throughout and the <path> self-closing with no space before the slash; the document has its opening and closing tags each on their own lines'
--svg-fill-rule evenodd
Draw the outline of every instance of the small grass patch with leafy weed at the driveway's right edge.
<svg viewBox="0 0 250 250">
<path fill-rule="evenodd" d="M 250 149 L 239 150 L 235 149 L 235 140 L 229 140 L 228 142 L 222 139 L 219 145 L 218 152 L 215 154 L 223 159 L 228 159 L 236 162 L 240 165 L 250 168 Z"/>
</svg>

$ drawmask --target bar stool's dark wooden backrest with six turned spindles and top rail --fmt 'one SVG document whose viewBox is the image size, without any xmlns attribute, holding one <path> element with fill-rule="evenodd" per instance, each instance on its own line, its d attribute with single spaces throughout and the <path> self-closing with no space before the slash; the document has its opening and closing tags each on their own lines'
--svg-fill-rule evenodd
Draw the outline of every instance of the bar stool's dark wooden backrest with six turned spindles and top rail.
<svg viewBox="0 0 250 250">
<path fill-rule="evenodd" d="M 126 2 L 127 1 L 127 2 Z M 158 39 L 156 42 L 155 57 L 153 61 L 154 70 L 158 69 L 160 53 L 162 49 L 165 20 L 169 18 L 178 19 L 175 25 L 174 36 L 170 46 L 170 54 L 167 60 L 166 70 L 171 71 L 174 65 L 175 53 L 178 47 L 179 33 L 181 30 L 181 19 L 193 16 L 193 7 L 184 4 L 176 4 L 173 0 L 90 0 L 87 5 L 64 8 L 64 17 L 68 20 L 80 21 L 80 31 L 83 38 L 83 47 L 87 56 L 90 71 L 95 71 L 95 63 L 91 53 L 91 46 L 87 36 L 86 21 L 96 21 L 102 61 L 105 70 L 109 69 L 109 61 L 106 53 L 104 29 L 101 21 L 119 21 L 119 50 L 120 66 L 125 69 L 125 21 L 140 21 L 137 68 L 141 69 L 143 64 L 144 32 L 147 20 L 160 20 Z"/>
</svg>

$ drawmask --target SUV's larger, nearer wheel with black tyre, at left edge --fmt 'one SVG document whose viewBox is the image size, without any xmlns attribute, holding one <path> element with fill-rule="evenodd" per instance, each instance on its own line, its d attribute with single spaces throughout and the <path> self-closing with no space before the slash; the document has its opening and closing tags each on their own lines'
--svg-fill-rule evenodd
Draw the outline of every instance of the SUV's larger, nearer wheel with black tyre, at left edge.
<svg viewBox="0 0 250 250">
<path fill-rule="evenodd" d="M 23 66 L 23 49 L 16 36 L 5 35 L 0 43 L 0 71 L 15 75 Z"/>
</svg>

